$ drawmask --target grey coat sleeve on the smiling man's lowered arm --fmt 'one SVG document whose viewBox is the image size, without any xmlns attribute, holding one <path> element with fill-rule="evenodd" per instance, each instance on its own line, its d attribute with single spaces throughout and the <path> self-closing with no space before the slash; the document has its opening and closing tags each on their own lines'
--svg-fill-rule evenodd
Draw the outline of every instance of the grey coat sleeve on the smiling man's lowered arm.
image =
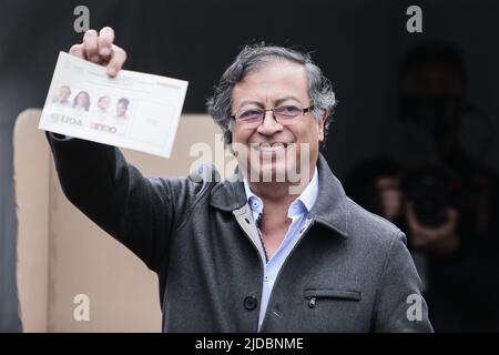
<svg viewBox="0 0 499 355">
<path fill-rule="evenodd" d="M 374 332 L 434 332 L 421 281 L 406 247 L 406 236 L 397 231 L 385 260 L 374 308 Z"/>
</svg>

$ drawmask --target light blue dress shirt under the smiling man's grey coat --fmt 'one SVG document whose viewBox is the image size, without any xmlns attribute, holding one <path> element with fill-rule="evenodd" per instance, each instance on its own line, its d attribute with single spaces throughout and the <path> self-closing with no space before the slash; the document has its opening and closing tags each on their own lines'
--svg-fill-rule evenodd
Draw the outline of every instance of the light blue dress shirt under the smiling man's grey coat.
<svg viewBox="0 0 499 355">
<path fill-rule="evenodd" d="M 246 191 L 247 202 L 253 212 L 253 219 L 256 221 L 264 209 L 263 201 L 249 190 L 249 185 L 246 180 L 244 180 L 244 190 Z M 265 312 L 267 310 L 268 298 L 271 297 L 272 288 L 274 287 L 277 274 L 287 256 L 298 242 L 298 231 L 305 223 L 308 212 L 314 206 L 315 201 L 317 200 L 317 194 L 318 172 L 317 168 L 315 168 L 314 176 L 312 178 L 308 185 L 305 187 L 302 194 L 289 205 L 287 216 L 292 220 L 292 224 L 289 225 L 289 229 L 287 230 L 287 233 L 284 236 L 284 240 L 282 241 L 279 247 L 276 250 L 274 255 L 272 255 L 268 262 L 266 261 L 263 251 L 261 251 L 262 262 L 264 265 L 264 280 L 262 287 L 262 304 L 259 307 L 258 317 L 258 332 L 262 326 Z"/>
</svg>

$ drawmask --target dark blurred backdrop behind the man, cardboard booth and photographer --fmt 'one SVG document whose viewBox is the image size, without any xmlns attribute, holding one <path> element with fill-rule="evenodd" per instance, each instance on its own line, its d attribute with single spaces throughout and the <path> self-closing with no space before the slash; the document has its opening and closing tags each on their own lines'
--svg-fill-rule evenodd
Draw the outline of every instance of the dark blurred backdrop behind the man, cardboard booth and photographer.
<svg viewBox="0 0 499 355">
<path fill-rule="evenodd" d="M 73 30 L 79 4 L 89 7 L 91 28 L 115 29 L 129 53 L 126 69 L 190 81 L 184 112 L 205 111 L 214 82 L 246 43 L 312 51 L 339 101 L 325 152 L 339 178 L 373 155 L 404 159 L 394 145 L 397 72 L 406 51 L 424 39 L 460 49 L 468 99 L 499 129 L 499 1 L 0 0 L 0 331 L 19 329 L 12 129 L 22 110 L 42 106 L 58 52 L 81 41 Z M 422 9 L 422 33 L 406 30 L 411 4 Z M 476 131 L 466 139 L 470 152 L 482 140 Z M 497 144 L 483 158 L 499 169 Z"/>
</svg>

